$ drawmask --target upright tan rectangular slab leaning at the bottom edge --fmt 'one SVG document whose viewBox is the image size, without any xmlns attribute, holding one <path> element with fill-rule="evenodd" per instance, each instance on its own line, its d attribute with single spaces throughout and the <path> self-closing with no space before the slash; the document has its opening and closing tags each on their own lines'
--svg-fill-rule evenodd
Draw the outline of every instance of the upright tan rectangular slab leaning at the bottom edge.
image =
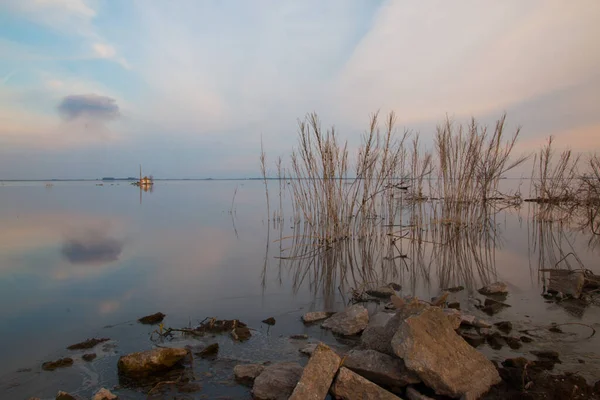
<svg viewBox="0 0 600 400">
<path fill-rule="evenodd" d="M 328 346 L 319 343 L 290 400 L 322 400 L 327 396 L 333 378 L 340 368 L 340 357 Z"/>
</svg>

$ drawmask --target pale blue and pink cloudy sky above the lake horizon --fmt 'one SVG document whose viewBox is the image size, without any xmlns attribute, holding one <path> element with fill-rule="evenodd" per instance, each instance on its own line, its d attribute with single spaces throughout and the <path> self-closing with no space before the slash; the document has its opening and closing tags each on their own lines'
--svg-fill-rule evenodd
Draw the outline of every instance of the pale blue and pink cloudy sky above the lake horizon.
<svg viewBox="0 0 600 400">
<path fill-rule="evenodd" d="M 600 151 L 598 38 L 597 0 L 0 0 L 0 179 L 254 177 L 310 112 Z"/>
</svg>

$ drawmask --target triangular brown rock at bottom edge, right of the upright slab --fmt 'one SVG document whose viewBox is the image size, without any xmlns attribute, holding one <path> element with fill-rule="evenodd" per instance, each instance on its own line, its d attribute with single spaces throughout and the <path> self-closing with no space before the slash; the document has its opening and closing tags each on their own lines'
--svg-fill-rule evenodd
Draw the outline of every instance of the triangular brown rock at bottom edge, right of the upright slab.
<svg viewBox="0 0 600 400">
<path fill-rule="evenodd" d="M 399 397 L 345 367 L 340 368 L 331 386 L 331 393 L 336 399 L 343 400 L 400 400 Z"/>
</svg>

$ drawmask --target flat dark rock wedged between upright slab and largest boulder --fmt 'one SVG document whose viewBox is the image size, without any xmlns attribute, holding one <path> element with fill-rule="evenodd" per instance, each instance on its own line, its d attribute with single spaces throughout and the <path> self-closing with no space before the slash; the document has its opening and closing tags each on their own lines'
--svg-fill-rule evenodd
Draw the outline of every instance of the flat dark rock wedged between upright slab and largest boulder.
<svg viewBox="0 0 600 400">
<path fill-rule="evenodd" d="M 375 350 L 352 350 L 344 358 L 344 367 L 381 386 L 401 388 L 421 380 L 399 358 Z"/>
</svg>

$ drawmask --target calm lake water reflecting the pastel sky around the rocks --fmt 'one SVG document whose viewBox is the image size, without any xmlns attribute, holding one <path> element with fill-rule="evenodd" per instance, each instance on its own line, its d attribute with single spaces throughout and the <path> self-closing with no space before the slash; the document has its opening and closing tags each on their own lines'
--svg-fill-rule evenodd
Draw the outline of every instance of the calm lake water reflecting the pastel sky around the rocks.
<svg viewBox="0 0 600 400">
<path fill-rule="evenodd" d="M 278 184 L 270 185 L 273 207 L 279 202 L 273 194 Z M 439 294 L 440 287 L 464 285 L 469 290 L 455 297 L 474 314 L 473 298 L 480 296 L 473 289 L 504 280 L 513 307 L 487 319 L 511 320 L 520 329 L 551 322 L 600 328 L 597 306 L 546 303 L 537 272 L 539 265 L 551 267 L 561 254 L 573 252 L 579 259 L 569 257 L 573 268 L 584 265 L 600 273 L 597 241 L 590 243 L 588 234 L 570 226 L 540 230 L 528 215 L 525 208 L 499 212 L 493 243 L 467 244 L 458 255 L 427 243 L 415 252 L 399 241 L 408 258 L 390 263 L 385 254 L 358 249 L 356 257 L 344 261 L 345 274 L 332 275 L 324 273 L 327 260 L 322 258 L 277 258 L 289 243 L 276 240 L 298 227 L 285 212 L 281 224 L 269 222 L 258 181 L 164 181 L 141 197 L 123 182 L 5 183 L 0 186 L 0 398 L 53 398 L 58 389 L 90 396 L 100 386 L 114 387 L 119 355 L 153 345 L 150 333 L 156 327 L 135 320 L 157 311 L 167 314 L 166 326 L 215 316 L 238 318 L 255 328 L 244 344 L 232 344 L 227 336 L 211 339 L 222 344 L 221 360 L 199 361 L 204 389 L 190 395 L 248 398 L 246 389 L 232 384 L 232 366 L 238 360 L 305 362 L 297 351 L 302 344 L 288 340 L 290 334 L 306 332 L 313 340 L 336 344 L 318 327 L 304 327 L 299 317 L 309 310 L 342 308 L 348 300 L 342 294 L 365 279 L 395 281 L 402 284 L 402 294 L 425 299 Z M 260 321 L 271 316 L 277 324 L 267 329 Z M 523 354 L 556 348 L 562 354 L 560 368 L 589 379 L 600 376 L 598 337 L 582 339 L 589 329 L 577 325 L 564 330 L 559 337 L 540 334 Z M 90 337 L 112 339 L 99 346 L 94 362 L 65 350 Z M 482 351 L 497 359 L 514 354 Z M 73 367 L 41 371 L 42 362 L 67 355 L 75 359 Z M 144 398 L 124 389 L 119 394 Z"/>
</svg>

